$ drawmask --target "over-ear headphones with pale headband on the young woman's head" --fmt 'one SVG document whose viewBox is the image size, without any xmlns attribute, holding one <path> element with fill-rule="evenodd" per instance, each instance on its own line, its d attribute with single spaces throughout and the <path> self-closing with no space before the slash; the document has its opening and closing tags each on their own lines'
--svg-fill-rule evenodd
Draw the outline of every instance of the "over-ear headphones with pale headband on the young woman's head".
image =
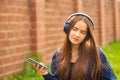
<svg viewBox="0 0 120 80">
<path fill-rule="evenodd" d="M 69 20 L 73 17 L 73 16 L 83 16 L 83 17 L 86 17 L 91 23 L 92 23 L 92 27 L 93 27 L 93 30 L 94 30 L 94 22 L 92 20 L 92 18 L 90 16 L 88 16 L 87 14 L 85 13 L 73 13 L 71 14 L 67 19 L 66 19 L 66 22 L 65 22 L 65 25 L 64 25 L 64 32 L 67 34 L 68 31 L 69 31 L 69 28 L 70 28 L 70 22 Z"/>
</svg>

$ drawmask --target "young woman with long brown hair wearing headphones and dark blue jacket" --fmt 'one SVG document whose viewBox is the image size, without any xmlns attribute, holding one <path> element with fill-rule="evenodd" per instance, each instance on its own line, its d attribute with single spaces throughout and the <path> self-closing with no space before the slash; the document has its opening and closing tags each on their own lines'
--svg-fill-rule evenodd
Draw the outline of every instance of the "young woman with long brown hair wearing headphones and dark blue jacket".
<svg viewBox="0 0 120 80">
<path fill-rule="evenodd" d="M 84 13 L 70 15 L 64 32 L 66 38 L 53 55 L 51 73 L 35 66 L 45 80 L 117 80 L 95 42 L 94 23 L 90 16 Z"/>
</svg>

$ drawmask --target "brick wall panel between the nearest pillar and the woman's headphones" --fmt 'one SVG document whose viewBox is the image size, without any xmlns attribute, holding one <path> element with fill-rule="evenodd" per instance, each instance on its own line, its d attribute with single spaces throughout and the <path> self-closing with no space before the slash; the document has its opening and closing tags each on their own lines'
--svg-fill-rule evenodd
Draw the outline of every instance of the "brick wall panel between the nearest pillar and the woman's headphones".
<svg viewBox="0 0 120 80">
<path fill-rule="evenodd" d="M 45 51 L 47 54 L 45 60 L 50 61 L 55 49 L 59 47 L 64 38 L 63 26 L 68 14 L 73 12 L 74 1 L 46 1 L 45 2 Z"/>
</svg>

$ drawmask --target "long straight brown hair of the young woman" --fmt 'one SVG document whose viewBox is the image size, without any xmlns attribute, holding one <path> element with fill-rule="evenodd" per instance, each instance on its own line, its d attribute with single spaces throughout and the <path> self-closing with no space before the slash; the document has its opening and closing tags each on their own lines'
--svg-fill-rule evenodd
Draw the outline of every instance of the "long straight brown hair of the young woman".
<svg viewBox="0 0 120 80">
<path fill-rule="evenodd" d="M 84 41 L 79 45 L 79 58 L 74 64 L 71 80 L 87 80 L 88 74 L 91 80 L 100 80 L 100 74 L 102 71 L 102 63 L 100 55 L 96 46 L 94 37 L 93 27 L 90 21 L 81 16 L 76 16 L 70 20 L 70 29 L 66 35 L 63 47 L 61 63 L 59 64 L 58 73 L 61 80 L 68 80 L 70 72 L 70 61 L 71 61 L 71 42 L 69 41 L 69 33 L 76 22 L 83 20 L 88 26 L 88 32 Z"/>
</svg>

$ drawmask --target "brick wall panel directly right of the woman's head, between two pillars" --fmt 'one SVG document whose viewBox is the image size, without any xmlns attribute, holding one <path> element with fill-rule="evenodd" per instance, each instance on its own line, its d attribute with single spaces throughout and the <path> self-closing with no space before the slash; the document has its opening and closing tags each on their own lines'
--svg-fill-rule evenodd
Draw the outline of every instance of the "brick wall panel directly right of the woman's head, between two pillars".
<svg viewBox="0 0 120 80">
<path fill-rule="evenodd" d="M 99 44 L 101 44 L 101 27 L 100 27 L 100 4 L 99 0 L 83 0 L 83 12 L 90 15 L 95 24 L 95 33 L 96 40 Z"/>
</svg>

